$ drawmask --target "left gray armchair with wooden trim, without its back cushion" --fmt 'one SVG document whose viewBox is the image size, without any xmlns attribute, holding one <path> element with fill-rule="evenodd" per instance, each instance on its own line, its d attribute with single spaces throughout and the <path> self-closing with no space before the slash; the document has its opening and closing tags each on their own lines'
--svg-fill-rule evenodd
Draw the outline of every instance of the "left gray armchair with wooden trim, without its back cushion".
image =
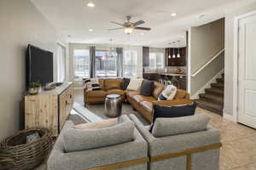
<svg viewBox="0 0 256 170">
<path fill-rule="evenodd" d="M 131 122 L 128 117 L 127 119 Z M 64 134 L 71 127 L 73 127 L 73 122 L 67 121 L 50 153 L 47 162 L 48 170 L 111 170 L 119 168 L 146 170 L 148 168 L 148 144 L 137 128 L 134 128 L 133 140 L 130 142 L 67 153 L 64 149 Z M 109 135 L 109 139 L 111 138 L 112 136 Z"/>
</svg>

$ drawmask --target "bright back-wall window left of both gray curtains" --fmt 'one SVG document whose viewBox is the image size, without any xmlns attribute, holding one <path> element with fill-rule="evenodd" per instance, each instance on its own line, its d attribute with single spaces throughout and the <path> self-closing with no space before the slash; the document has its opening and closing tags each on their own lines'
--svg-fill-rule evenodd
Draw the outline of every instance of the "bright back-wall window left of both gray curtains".
<svg viewBox="0 0 256 170">
<path fill-rule="evenodd" d="M 79 77 L 90 77 L 90 54 L 89 49 L 74 49 L 74 76 Z"/>
</svg>

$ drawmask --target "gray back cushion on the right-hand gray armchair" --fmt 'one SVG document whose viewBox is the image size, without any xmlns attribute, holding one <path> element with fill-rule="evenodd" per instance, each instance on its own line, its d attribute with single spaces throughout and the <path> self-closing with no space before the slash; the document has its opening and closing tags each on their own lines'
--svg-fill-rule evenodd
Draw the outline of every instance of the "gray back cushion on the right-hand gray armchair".
<svg viewBox="0 0 256 170">
<path fill-rule="evenodd" d="M 206 115 L 183 116 L 177 118 L 158 118 L 154 122 L 152 134 L 156 138 L 195 133 L 207 130 L 211 118 Z"/>
</svg>

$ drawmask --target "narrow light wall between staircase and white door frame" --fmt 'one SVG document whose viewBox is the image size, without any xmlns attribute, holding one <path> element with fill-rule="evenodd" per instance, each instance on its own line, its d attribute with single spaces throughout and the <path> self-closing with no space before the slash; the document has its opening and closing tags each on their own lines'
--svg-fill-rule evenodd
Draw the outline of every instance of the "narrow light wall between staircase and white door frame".
<svg viewBox="0 0 256 170">
<path fill-rule="evenodd" d="M 225 14 L 225 82 L 224 114 L 233 115 L 234 102 L 234 23 L 235 17 L 256 10 L 256 3 Z M 236 106 L 235 106 L 236 108 Z"/>
</svg>

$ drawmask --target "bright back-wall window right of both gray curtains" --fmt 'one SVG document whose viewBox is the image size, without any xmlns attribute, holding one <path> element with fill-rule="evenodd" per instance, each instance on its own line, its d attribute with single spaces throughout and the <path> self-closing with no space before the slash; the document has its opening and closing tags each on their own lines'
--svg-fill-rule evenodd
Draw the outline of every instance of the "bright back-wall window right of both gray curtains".
<svg viewBox="0 0 256 170">
<path fill-rule="evenodd" d="M 125 51 L 123 59 L 124 77 L 137 76 L 137 52 Z"/>
</svg>

